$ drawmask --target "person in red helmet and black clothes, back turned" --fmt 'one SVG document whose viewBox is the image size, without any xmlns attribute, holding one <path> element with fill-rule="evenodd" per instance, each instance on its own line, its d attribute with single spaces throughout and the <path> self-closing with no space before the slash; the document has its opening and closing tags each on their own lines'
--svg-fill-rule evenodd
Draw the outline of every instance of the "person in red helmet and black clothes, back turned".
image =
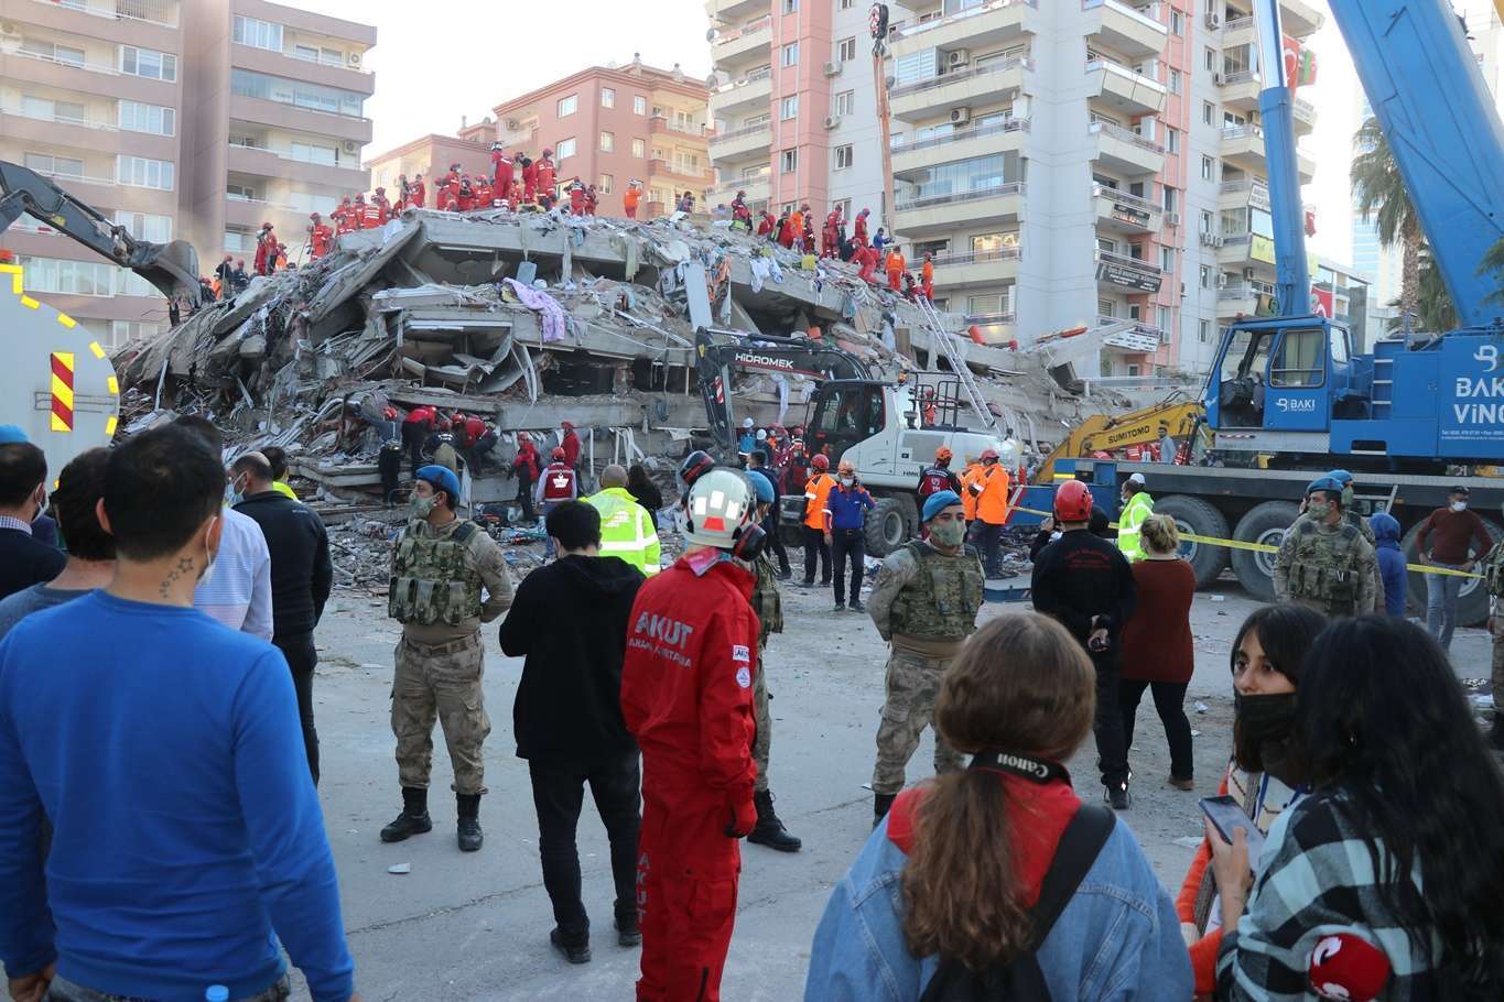
<svg viewBox="0 0 1504 1002">
<path fill-rule="evenodd" d="M 1071 631 L 1096 669 L 1096 766 L 1114 811 L 1128 810 L 1128 748 L 1117 703 L 1122 673 L 1119 637 L 1139 601 L 1128 560 L 1090 532 L 1092 491 L 1065 481 L 1054 491 L 1054 524 L 1060 538 L 1039 551 L 1029 583 L 1035 611 Z"/>
</svg>

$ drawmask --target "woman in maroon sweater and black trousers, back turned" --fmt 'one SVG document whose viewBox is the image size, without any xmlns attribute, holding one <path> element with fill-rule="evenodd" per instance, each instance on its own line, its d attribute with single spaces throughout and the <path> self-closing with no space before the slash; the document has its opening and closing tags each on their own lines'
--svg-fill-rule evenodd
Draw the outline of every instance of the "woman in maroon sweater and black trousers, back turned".
<svg viewBox="0 0 1504 1002">
<path fill-rule="evenodd" d="M 1145 553 L 1145 559 L 1133 565 L 1139 604 L 1123 626 L 1123 670 L 1117 679 L 1123 747 L 1133 750 L 1139 700 L 1149 690 L 1170 744 L 1170 786 L 1191 790 L 1196 781 L 1191 775 L 1191 721 L 1185 717 L 1185 690 L 1196 670 L 1196 647 L 1191 643 L 1196 572 L 1181 559 L 1181 532 L 1169 515 L 1145 518 L 1139 536 Z"/>
</svg>

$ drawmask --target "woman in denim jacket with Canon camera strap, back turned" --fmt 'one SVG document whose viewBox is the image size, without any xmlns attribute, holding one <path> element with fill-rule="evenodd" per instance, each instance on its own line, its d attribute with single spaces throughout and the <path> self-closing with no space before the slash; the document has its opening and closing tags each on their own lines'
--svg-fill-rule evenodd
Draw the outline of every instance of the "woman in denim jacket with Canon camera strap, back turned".
<svg viewBox="0 0 1504 1002">
<path fill-rule="evenodd" d="M 1053 619 L 999 616 L 967 640 L 935 729 L 972 766 L 893 802 L 830 895 L 806 1002 L 911 1002 L 932 981 L 945 997 L 1190 997 L 1169 895 L 1062 765 L 1095 709 L 1090 658 Z"/>
</svg>

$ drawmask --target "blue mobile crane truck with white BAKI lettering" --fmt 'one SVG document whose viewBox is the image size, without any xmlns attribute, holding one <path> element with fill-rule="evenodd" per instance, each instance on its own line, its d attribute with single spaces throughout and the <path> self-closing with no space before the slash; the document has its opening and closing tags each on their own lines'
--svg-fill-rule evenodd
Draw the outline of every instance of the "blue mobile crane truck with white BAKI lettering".
<svg viewBox="0 0 1504 1002">
<path fill-rule="evenodd" d="M 1466 484 L 1495 539 L 1504 503 L 1504 303 L 1496 276 L 1480 275 L 1504 237 L 1504 126 L 1447 0 L 1330 0 L 1430 240 L 1463 326 L 1381 340 L 1355 353 L 1345 324 L 1316 315 L 1304 246 L 1292 95 L 1281 57 L 1277 0 L 1256 0 L 1265 159 L 1275 248 L 1275 315 L 1227 327 L 1205 391 L 1215 455 L 1226 466 L 1092 463 L 1080 478 L 1110 493 L 1143 473 L 1155 511 L 1182 530 L 1277 545 L 1295 521 L 1305 484 L 1345 467 L 1361 506 L 1387 508 L 1415 538 L 1426 515 Z M 1274 554 L 1190 544 L 1199 584 L 1229 565 L 1254 596 L 1272 598 Z M 1411 595 L 1424 602 L 1424 577 Z M 1459 616 L 1484 619 L 1487 596 L 1463 586 Z"/>
</svg>

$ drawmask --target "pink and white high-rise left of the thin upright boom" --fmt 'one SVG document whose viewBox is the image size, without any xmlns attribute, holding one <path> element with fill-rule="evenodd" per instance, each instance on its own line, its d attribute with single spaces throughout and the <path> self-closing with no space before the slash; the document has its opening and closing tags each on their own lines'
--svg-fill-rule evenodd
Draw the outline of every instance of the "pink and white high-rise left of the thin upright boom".
<svg viewBox="0 0 1504 1002">
<path fill-rule="evenodd" d="M 872 231 L 892 225 L 875 87 L 886 68 L 874 60 L 869 9 L 857 0 L 707 2 L 711 201 L 744 191 L 754 210 L 808 201 L 823 216 L 841 204 L 847 218 L 871 209 Z M 908 11 L 889 5 L 889 17 Z"/>
</svg>

